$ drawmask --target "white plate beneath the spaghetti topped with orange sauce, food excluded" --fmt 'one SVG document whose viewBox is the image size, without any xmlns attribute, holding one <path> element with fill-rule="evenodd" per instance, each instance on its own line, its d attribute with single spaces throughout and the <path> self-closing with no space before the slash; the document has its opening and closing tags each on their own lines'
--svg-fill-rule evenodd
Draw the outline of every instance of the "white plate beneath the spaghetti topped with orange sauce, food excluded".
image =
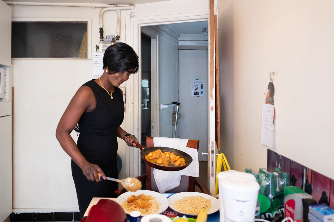
<svg viewBox="0 0 334 222">
<path fill-rule="evenodd" d="M 169 202 L 168 202 L 167 197 L 165 197 L 164 195 L 162 195 L 158 192 L 151 191 L 151 190 L 137 190 L 136 192 L 125 192 L 125 193 L 121 194 L 119 197 L 117 197 L 116 202 L 121 205 L 122 203 L 127 201 L 128 197 L 131 197 L 132 195 L 137 196 L 139 194 L 152 195 L 155 198 L 155 200 L 159 204 L 159 210 L 158 210 L 158 212 L 156 212 L 156 214 L 160 214 L 168 208 Z M 124 209 L 124 211 L 125 211 L 126 214 L 131 213 L 130 211 L 127 211 L 126 209 Z M 141 215 L 141 216 L 143 216 L 143 215 Z"/>
</svg>

